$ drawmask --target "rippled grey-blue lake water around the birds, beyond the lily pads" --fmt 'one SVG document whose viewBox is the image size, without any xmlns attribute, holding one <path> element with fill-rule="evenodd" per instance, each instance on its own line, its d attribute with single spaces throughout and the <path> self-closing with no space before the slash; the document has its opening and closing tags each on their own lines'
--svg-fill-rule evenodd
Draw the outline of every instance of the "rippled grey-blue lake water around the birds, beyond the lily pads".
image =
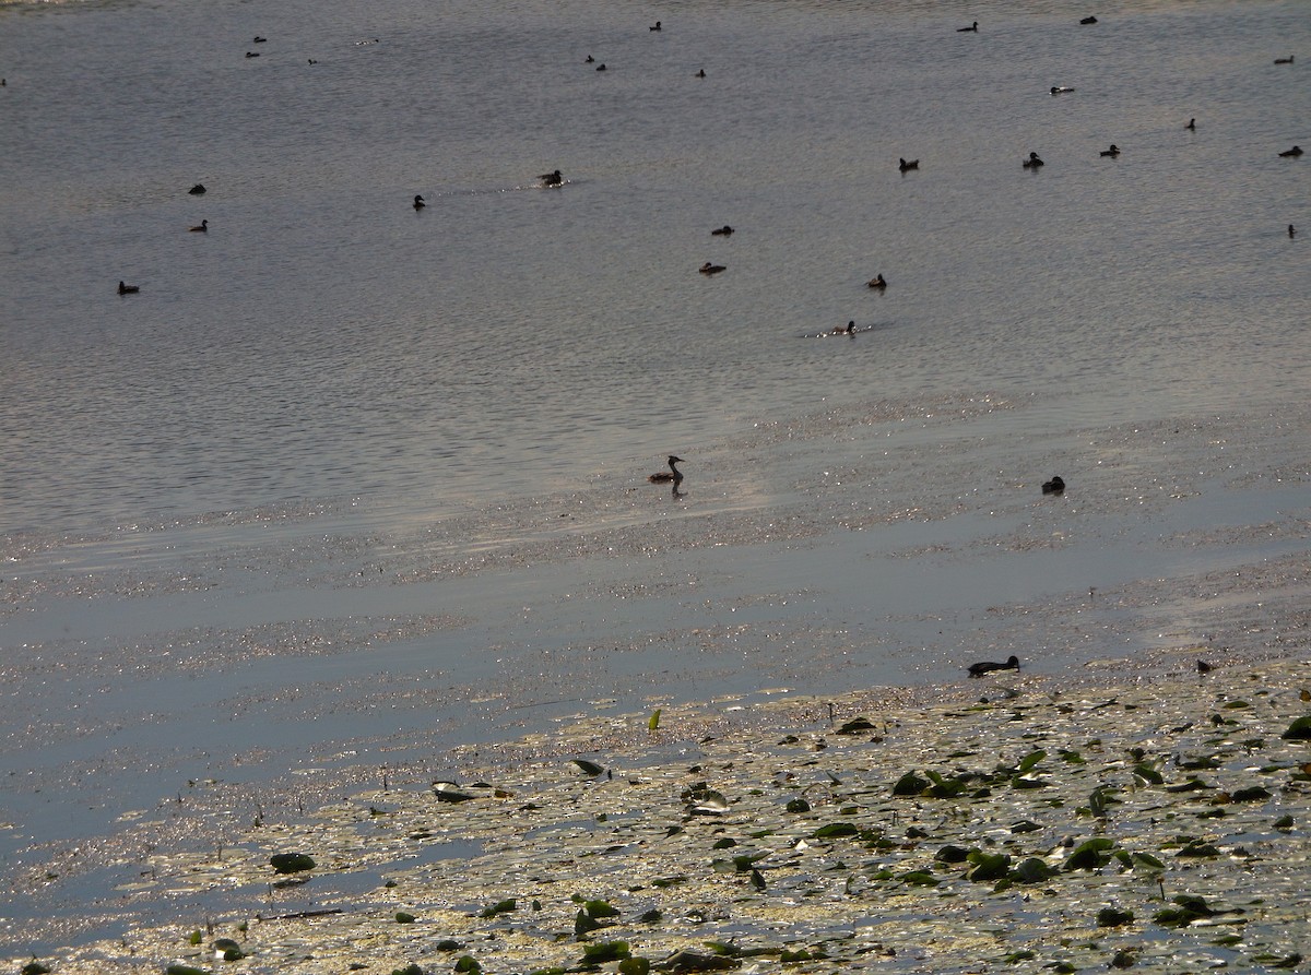
<svg viewBox="0 0 1311 975">
<path fill-rule="evenodd" d="M 7 928 L 189 778 L 1214 642 L 1307 550 L 1311 18 L 1095 8 L 0 0 Z"/>
</svg>

